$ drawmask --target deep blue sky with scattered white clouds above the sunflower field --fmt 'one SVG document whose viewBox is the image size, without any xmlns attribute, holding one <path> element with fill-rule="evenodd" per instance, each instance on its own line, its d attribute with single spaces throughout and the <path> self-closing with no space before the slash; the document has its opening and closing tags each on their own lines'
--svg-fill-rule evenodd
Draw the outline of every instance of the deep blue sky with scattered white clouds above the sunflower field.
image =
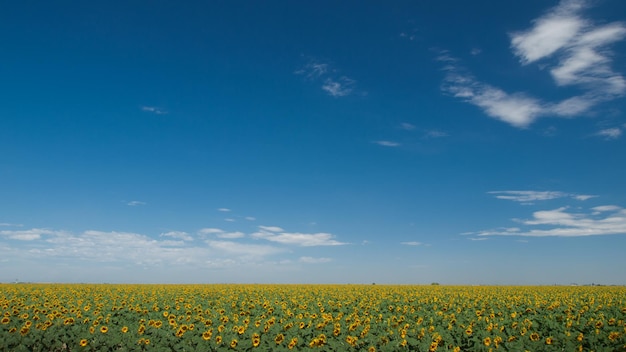
<svg viewBox="0 0 626 352">
<path fill-rule="evenodd" d="M 0 281 L 626 284 L 626 3 L 0 4 Z"/>
</svg>

